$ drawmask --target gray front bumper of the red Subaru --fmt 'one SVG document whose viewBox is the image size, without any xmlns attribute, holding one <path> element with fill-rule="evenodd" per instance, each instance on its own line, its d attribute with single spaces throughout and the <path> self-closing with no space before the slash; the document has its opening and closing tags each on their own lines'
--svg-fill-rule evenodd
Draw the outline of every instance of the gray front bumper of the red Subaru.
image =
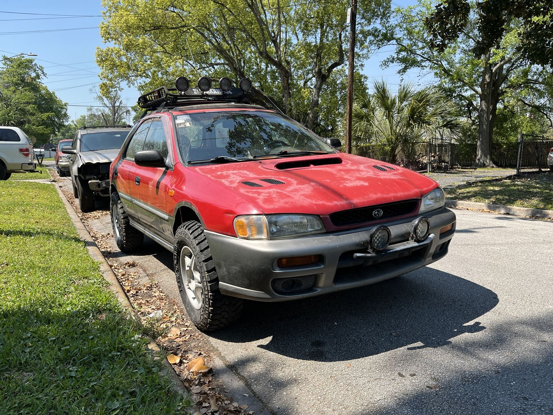
<svg viewBox="0 0 553 415">
<path fill-rule="evenodd" d="M 409 247 L 410 225 L 417 217 L 430 221 L 430 234 L 421 246 Z M 440 229 L 453 224 L 451 231 L 440 236 Z M 388 226 L 392 242 L 390 253 L 376 260 L 356 259 L 354 253 L 368 252 L 369 236 L 376 226 L 330 232 L 291 239 L 254 241 L 206 231 L 213 261 L 223 294 L 260 301 L 285 301 L 312 297 L 337 290 L 366 286 L 424 267 L 445 256 L 455 233 L 455 214 L 445 207 L 434 212 L 391 221 Z M 401 249 L 397 249 L 397 248 Z M 395 249 L 394 249 L 395 248 Z M 279 268 L 282 257 L 322 255 L 319 264 Z M 299 293 L 276 293 L 275 278 L 315 276 L 313 287 Z"/>
</svg>

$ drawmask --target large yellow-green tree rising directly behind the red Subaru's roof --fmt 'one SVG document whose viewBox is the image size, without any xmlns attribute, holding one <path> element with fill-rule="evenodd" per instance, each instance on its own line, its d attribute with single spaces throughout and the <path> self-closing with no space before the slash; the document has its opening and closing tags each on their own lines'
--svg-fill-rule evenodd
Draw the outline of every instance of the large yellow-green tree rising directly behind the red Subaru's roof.
<svg viewBox="0 0 553 415">
<path fill-rule="evenodd" d="M 273 102 L 309 128 L 319 128 L 321 102 L 341 83 L 348 44 L 346 4 L 290 0 L 104 0 L 101 35 L 113 46 L 98 48 L 101 77 L 140 90 L 170 85 L 176 76 L 213 79 L 244 76 L 253 100 Z M 389 0 L 359 3 L 357 67 L 385 32 Z M 338 94 L 341 96 L 341 94 Z M 336 94 L 335 94 L 336 96 Z M 334 113 L 343 99 L 333 101 Z M 336 129 L 322 123 L 321 131 Z"/>
</svg>

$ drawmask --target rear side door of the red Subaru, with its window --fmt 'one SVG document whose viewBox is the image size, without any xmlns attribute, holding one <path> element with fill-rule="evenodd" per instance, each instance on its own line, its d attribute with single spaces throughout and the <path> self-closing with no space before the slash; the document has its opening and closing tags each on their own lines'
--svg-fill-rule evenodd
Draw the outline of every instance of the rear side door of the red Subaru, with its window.
<svg viewBox="0 0 553 415">
<path fill-rule="evenodd" d="M 123 203 L 123 207 L 132 219 L 137 220 L 137 206 L 133 202 L 131 195 L 132 186 L 134 186 L 134 170 L 137 165 L 134 164 L 134 154 L 144 148 L 144 140 L 148 134 L 148 129 L 152 120 L 144 120 L 129 139 L 126 148 L 121 155 L 121 162 L 117 165 L 117 193 Z"/>
</svg>

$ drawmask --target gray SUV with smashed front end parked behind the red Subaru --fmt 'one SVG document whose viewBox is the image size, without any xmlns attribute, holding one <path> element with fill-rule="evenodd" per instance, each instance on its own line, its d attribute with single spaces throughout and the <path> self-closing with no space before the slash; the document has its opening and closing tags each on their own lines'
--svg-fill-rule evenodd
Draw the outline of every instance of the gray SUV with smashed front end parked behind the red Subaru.
<svg viewBox="0 0 553 415">
<path fill-rule="evenodd" d="M 61 148 L 62 153 L 69 154 L 69 175 L 81 211 L 91 212 L 95 200 L 109 198 L 109 165 L 129 131 L 128 125 L 81 127 L 71 147 Z"/>
</svg>

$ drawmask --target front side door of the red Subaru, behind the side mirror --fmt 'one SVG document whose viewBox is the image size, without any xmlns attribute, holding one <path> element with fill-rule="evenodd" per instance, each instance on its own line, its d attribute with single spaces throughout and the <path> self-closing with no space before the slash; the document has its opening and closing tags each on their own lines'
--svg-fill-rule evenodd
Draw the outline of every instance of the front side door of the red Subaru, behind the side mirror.
<svg viewBox="0 0 553 415">
<path fill-rule="evenodd" d="M 157 150 L 165 159 L 169 156 L 169 128 L 165 120 L 154 118 L 144 142 L 144 150 Z M 166 122 L 166 121 L 165 121 Z M 131 181 L 131 197 L 135 201 L 138 221 L 149 231 L 170 241 L 169 188 L 172 169 L 135 165 Z"/>
</svg>

